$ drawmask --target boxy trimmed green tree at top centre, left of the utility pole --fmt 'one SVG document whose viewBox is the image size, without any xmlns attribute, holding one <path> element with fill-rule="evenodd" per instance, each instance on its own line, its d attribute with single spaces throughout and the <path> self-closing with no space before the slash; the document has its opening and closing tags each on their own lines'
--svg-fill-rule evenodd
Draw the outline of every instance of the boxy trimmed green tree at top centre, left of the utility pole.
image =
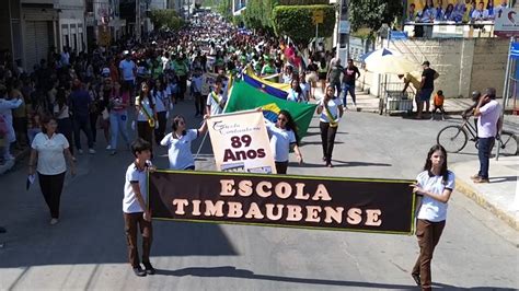
<svg viewBox="0 0 519 291">
<path fill-rule="evenodd" d="M 333 5 L 279 5 L 274 8 L 274 27 L 276 34 L 288 35 L 298 45 L 308 45 L 315 37 L 313 11 L 324 13 L 323 23 L 319 24 L 319 36 L 333 36 L 335 27 L 335 7 Z"/>
</svg>

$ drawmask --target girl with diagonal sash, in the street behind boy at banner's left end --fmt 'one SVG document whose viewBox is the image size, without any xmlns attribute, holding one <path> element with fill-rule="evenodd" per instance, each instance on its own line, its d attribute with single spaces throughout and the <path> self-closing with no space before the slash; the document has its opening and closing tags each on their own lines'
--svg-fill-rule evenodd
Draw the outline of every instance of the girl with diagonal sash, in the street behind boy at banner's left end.
<svg viewBox="0 0 519 291">
<path fill-rule="evenodd" d="M 140 83 L 140 94 L 135 101 L 137 108 L 137 135 L 153 143 L 153 129 L 157 126 L 157 112 L 153 97 L 147 81 Z"/>
</svg>

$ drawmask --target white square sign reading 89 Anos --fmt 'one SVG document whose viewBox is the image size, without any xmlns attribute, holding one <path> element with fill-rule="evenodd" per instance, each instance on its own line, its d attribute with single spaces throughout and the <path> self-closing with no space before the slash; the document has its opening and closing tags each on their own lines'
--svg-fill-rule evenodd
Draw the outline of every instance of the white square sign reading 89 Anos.
<svg viewBox="0 0 519 291">
<path fill-rule="evenodd" d="M 218 171 L 276 173 L 263 114 L 257 110 L 207 119 Z"/>
</svg>

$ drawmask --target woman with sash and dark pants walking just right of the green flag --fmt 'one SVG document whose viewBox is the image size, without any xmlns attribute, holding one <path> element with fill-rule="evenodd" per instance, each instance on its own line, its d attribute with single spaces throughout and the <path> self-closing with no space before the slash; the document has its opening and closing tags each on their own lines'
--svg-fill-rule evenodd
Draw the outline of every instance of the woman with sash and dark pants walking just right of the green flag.
<svg viewBox="0 0 519 291">
<path fill-rule="evenodd" d="M 339 97 L 335 97 L 335 88 L 326 86 L 326 94 L 319 102 L 318 114 L 320 114 L 319 127 L 321 129 L 321 141 L 323 144 L 323 161 L 326 166 L 332 165 L 332 152 L 337 133 L 338 121 L 343 117 L 344 109 Z"/>
</svg>

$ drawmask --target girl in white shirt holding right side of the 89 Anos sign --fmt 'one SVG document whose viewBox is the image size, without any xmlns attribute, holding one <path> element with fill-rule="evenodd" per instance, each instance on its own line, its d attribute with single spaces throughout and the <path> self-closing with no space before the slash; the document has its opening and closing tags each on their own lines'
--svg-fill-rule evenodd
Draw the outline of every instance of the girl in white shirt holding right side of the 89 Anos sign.
<svg viewBox="0 0 519 291">
<path fill-rule="evenodd" d="M 267 132 L 270 136 L 270 149 L 274 154 L 276 173 L 287 174 L 288 155 L 293 148 L 298 162 L 303 162 L 301 151 L 298 147 L 298 133 L 296 121 L 287 110 L 280 110 L 276 124 L 265 119 Z"/>
</svg>

